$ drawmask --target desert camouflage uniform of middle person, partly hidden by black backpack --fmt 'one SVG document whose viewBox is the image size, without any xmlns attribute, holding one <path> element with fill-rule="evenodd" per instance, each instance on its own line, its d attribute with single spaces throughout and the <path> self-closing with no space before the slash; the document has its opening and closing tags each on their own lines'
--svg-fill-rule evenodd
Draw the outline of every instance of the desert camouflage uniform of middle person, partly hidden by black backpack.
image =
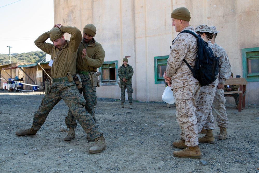
<svg viewBox="0 0 259 173">
<path fill-rule="evenodd" d="M 208 46 L 212 49 L 214 56 L 219 57 L 218 49 L 211 43 L 211 41 L 208 41 Z M 195 115 L 197 118 L 198 123 L 198 131 L 200 132 L 207 120 L 208 115 L 211 113 L 212 109 L 212 102 L 214 100 L 215 92 L 217 89 L 219 83 L 219 79 L 217 78 L 214 82 L 212 82 L 209 85 L 202 86 L 200 88 L 200 94 L 199 99 L 196 104 L 196 111 Z M 214 117 L 212 116 L 211 122 L 207 124 L 207 130 L 214 130 L 215 124 L 214 124 Z"/>
</svg>

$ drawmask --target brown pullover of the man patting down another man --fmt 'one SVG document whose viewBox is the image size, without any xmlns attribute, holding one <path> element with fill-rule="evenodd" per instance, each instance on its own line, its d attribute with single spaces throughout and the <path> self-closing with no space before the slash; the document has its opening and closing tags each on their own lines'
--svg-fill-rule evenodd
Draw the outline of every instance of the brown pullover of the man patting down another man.
<svg viewBox="0 0 259 173">
<path fill-rule="evenodd" d="M 83 40 L 81 41 L 76 60 L 76 69 L 84 71 L 94 71 L 97 72 L 97 68 L 103 65 L 105 51 L 100 43 L 96 42 L 93 38 L 94 43 L 89 44 L 85 47 Z M 82 58 L 82 51 L 86 49 L 87 56 Z"/>
</svg>

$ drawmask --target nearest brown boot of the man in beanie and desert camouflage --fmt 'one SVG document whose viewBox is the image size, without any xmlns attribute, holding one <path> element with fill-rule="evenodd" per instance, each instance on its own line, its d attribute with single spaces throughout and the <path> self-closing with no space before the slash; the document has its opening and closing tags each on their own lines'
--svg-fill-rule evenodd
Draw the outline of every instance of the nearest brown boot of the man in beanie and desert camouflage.
<svg viewBox="0 0 259 173">
<path fill-rule="evenodd" d="M 186 147 L 181 151 L 174 151 L 174 156 L 181 158 L 194 158 L 198 159 L 202 157 L 199 146 Z"/>
</svg>

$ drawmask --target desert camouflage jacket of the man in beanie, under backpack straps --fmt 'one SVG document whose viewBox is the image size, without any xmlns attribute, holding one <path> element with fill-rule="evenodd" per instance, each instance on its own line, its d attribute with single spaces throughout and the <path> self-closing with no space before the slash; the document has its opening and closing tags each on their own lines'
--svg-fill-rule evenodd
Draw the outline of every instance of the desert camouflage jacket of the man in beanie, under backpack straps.
<svg viewBox="0 0 259 173">
<path fill-rule="evenodd" d="M 183 30 L 190 30 L 194 33 L 192 26 L 187 26 Z M 193 77 L 190 68 L 184 63 L 183 59 L 193 68 L 197 57 L 197 39 L 189 33 L 179 34 L 173 41 L 167 60 L 166 74 L 171 77 L 171 89 L 198 83 Z"/>
</svg>

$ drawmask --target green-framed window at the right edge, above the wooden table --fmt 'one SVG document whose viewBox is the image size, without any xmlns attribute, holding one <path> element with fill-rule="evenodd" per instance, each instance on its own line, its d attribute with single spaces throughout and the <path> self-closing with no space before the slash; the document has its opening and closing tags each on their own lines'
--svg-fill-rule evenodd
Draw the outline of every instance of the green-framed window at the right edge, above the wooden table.
<svg viewBox="0 0 259 173">
<path fill-rule="evenodd" d="M 259 47 L 242 49 L 243 77 L 248 82 L 259 81 Z"/>
</svg>

